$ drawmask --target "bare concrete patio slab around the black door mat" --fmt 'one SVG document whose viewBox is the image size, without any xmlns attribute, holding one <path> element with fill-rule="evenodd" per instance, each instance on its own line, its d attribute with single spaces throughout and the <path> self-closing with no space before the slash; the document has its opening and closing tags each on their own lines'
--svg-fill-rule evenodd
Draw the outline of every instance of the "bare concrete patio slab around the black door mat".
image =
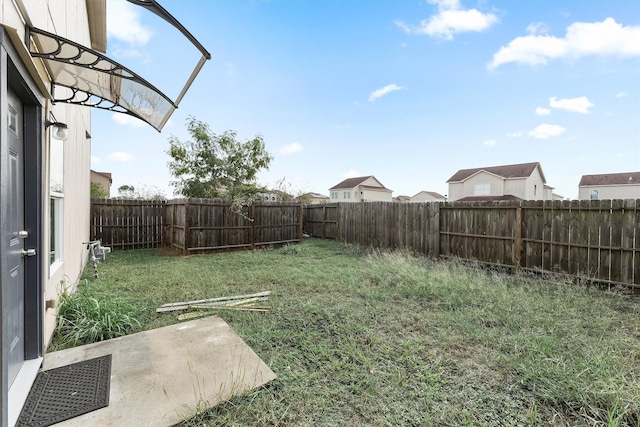
<svg viewBox="0 0 640 427">
<path fill-rule="evenodd" d="M 59 426 L 172 426 L 276 378 L 217 316 L 47 353 L 44 369 L 111 354 L 109 406 Z"/>
</svg>

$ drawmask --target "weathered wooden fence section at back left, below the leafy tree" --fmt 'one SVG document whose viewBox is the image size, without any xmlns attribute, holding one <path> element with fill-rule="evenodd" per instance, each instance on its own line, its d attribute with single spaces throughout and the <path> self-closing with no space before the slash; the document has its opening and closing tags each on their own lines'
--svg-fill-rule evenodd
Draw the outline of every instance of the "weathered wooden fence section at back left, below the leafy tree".
<svg viewBox="0 0 640 427">
<path fill-rule="evenodd" d="M 189 254 L 302 240 L 302 206 L 256 204 L 237 212 L 218 199 L 92 200 L 91 240 L 114 249 L 171 246 Z"/>
</svg>

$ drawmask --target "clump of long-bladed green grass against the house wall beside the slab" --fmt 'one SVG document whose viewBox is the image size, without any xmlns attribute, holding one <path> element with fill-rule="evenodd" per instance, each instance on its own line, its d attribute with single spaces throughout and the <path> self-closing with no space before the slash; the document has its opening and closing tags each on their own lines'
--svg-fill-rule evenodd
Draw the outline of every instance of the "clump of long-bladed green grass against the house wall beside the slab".
<svg viewBox="0 0 640 427">
<path fill-rule="evenodd" d="M 120 295 L 93 296 L 87 288 L 64 292 L 56 325 L 56 349 L 121 337 L 141 328 L 138 306 Z"/>
</svg>

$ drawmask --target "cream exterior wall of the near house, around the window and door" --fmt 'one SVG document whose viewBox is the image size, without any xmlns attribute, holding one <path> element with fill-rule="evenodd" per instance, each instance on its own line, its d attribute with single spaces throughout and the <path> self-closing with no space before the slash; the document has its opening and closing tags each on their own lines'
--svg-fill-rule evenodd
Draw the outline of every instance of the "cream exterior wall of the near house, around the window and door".
<svg viewBox="0 0 640 427">
<path fill-rule="evenodd" d="M 20 8 L 20 10 L 17 7 Z M 56 33 L 86 46 L 90 46 L 90 33 L 87 21 L 85 0 L 16 0 L 0 2 L 0 21 L 17 30 L 21 40 L 25 37 L 25 22 L 34 27 Z M 26 47 L 22 46 L 21 50 Z M 31 77 L 50 87 L 50 81 L 42 71 L 38 60 L 33 61 L 39 70 Z M 40 85 L 39 85 L 40 86 Z M 91 141 L 86 132 L 91 131 L 91 109 L 63 103 L 53 104 L 47 101 L 44 118 L 55 117 L 69 127 L 68 139 L 64 142 L 64 201 L 62 222 L 62 262 L 49 265 L 49 256 L 42 256 L 43 284 L 45 301 L 57 301 L 64 286 L 75 287 L 87 260 L 88 252 L 83 242 L 89 239 L 89 195 Z M 50 242 L 50 192 L 49 192 L 49 155 L 50 130 L 45 131 L 43 144 L 43 236 L 44 247 L 48 250 Z M 45 304 L 43 304 L 45 306 Z M 51 339 L 55 327 L 55 308 L 45 313 L 45 346 Z"/>
</svg>

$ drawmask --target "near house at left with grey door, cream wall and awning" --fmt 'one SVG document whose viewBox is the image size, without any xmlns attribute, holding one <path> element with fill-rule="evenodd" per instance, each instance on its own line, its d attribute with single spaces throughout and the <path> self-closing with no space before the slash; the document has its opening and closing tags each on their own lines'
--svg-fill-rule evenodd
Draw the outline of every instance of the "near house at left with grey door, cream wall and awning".
<svg viewBox="0 0 640 427">
<path fill-rule="evenodd" d="M 108 3 L 0 1 L 2 427 L 18 419 L 53 335 L 60 293 L 74 290 L 87 261 L 88 107 L 111 106 L 161 130 L 178 106 L 101 53 Z M 201 48 L 156 2 L 143 7 Z"/>
</svg>

